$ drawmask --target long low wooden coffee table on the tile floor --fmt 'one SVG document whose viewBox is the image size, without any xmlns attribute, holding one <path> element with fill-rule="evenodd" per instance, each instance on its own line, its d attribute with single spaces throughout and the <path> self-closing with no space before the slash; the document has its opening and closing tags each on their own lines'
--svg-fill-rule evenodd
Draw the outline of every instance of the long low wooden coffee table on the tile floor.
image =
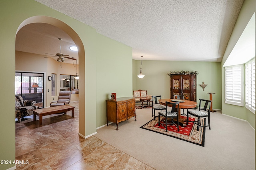
<svg viewBox="0 0 256 170">
<path fill-rule="evenodd" d="M 36 115 L 39 116 L 39 125 L 43 123 L 43 116 L 52 115 L 57 113 L 67 113 L 67 111 L 72 111 L 72 117 L 74 117 L 74 106 L 63 105 L 63 106 L 55 106 L 55 107 L 48 107 L 43 109 L 36 109 L 33 110 L 34 112 L 34 121 L 36 121 Z"/>
</svg>

